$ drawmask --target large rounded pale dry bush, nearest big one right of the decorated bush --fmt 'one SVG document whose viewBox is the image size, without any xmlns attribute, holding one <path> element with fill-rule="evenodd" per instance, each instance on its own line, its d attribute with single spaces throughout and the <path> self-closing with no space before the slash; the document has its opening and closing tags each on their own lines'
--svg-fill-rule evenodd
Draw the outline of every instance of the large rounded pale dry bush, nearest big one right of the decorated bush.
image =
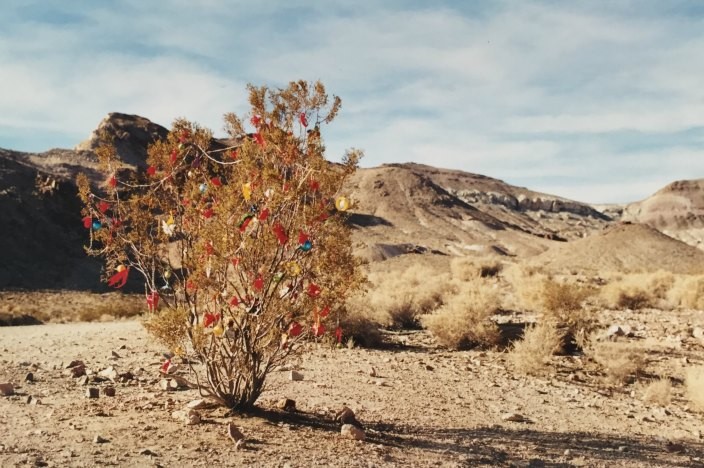
<svg viewBox="0 0 704 468">
<path fill-rule="evenodd" d="M 422 317 L 423 326 L 448 348 L 495 345 L 500 335 L 492 315 L 501 308 L 495 284 L 474 280 L 459 288 L 444 305 Z"/>
</svg>

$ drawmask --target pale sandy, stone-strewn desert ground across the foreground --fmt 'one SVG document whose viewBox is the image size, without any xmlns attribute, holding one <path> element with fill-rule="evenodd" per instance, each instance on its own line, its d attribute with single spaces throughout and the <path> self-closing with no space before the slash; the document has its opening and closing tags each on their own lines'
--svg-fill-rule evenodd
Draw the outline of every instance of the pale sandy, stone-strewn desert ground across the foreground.
<svg viewBox="0 0 704 468">
<path fill-rule="evenodd" d="M 292 363 L 303 381 L 286 370 L 271 375 L 261 414 L 211 407 L 197 425 L 173 419 L 197 391 L 161 390 L 163 350 L 138 321 L 0 328 L 0 382 L 16 386 L 0 396 L 0 466 L 704 466 L 704 417 L 688 408 L 678 377 L 704 361 L 704 348 L 685 336 L 702 319 L 610 318 L 652 344 L 649 369 L 675 382 L 666 408 L 645 404 L 633 385 L 603 384 L 580 357 L 556 358 L 551 374 L 528 378 L 512 372 L 505 353 L 449 352 L 418 332 L 397 336 L 390 350 L 312 345 Z M 101 388 L 89 399 L 65 369 L 75 359 L 135 379 L 89 383 Z M 25 381 L 29 372 L 34 382 Z M 109 385 L 114 397 L 103 394 Z M 296 413 L 275 409 L 283 397 L 296 401 Z M 340 436 L 334 414 L 343 405 L 366 441 Z M 524 421 L 505 420 L 511 413 Z M 248 449 L 235 450 L 228 422 Z"/>
</svg>

